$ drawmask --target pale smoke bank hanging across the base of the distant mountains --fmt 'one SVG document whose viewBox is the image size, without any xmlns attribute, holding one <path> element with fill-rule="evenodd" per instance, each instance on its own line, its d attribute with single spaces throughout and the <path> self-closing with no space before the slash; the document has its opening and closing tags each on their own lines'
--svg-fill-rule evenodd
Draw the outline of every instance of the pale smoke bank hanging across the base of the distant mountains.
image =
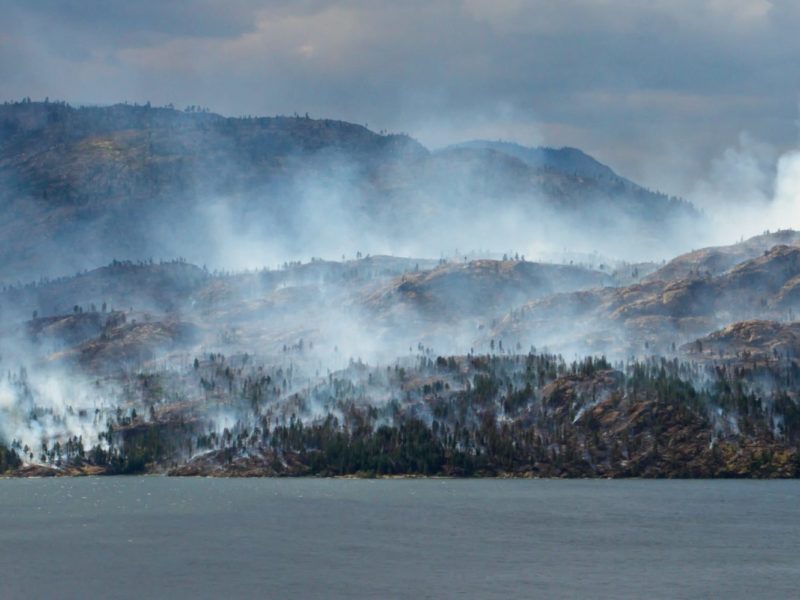
<svg viewBox="0 0 800 600">
<path fill-rule="evenodd" d="M 564 185 L 557 180 L 545 191 L 536 181 L 520 181 L 513 170 L 522 165 L 512 159 L 498 167 L 482 155 L 435 153 L 423 167 L 387 167 L 399 175 L 365 174 L 346 156 L 330 160 L 334 170 L 302 169 L 286 186 L 202 197 L 180 219 L 154 215 L 147 247 L 232 271 L 357 254 L 535 259 L 599 253 L 613 262 L 667 258 L 688 249 L 697 231 L 697 218 L 679 210 L 658 227 L 643 225 L 652 217 L 637 213 L 641 207 L 615 206 L 617 199 L 591 182 L 564 192 L 553 189 Z M 392 187 L 376 177 L 389 178 Z M 664 235 L 665 225 L 673 235 Z"/>
</svg>

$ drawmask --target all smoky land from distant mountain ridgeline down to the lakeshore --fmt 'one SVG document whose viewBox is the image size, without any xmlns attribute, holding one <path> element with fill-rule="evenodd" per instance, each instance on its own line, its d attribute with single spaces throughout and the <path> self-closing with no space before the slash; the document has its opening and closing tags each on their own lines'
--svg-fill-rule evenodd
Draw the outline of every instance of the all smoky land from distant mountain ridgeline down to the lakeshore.
<svg viewBox="0 0 800 600">
<path fill-rule="evenodd" d="M 800 234 L 575 148 L 26 100 L 0 208 L 0 470 L 800 473 Z"/>
</svg>

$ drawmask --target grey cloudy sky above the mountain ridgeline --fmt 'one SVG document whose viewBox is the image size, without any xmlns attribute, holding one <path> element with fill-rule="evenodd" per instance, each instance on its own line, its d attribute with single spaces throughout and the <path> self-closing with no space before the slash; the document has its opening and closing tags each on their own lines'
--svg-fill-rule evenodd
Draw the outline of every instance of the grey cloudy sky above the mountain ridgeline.
<svg viewBox="0 0 800 600">
<path fill-rule="evenodd" d="M 308 111 L 430 147 L 476 137 L 571 145 L 672 193 L 690 191 L 741 139 L 767 153 L 797 146 L 795 0 L 0 7 L 2 100 Z"/>
</svg>

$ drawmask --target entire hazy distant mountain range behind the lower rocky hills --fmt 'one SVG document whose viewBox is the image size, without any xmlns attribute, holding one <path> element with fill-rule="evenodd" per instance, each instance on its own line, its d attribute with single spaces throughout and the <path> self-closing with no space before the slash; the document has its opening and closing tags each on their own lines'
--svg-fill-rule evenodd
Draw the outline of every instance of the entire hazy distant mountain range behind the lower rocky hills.
<svg viewBox="0 0 800 600">
<path fill-rule="evenodd" d="M 0 209 L 6 283 L 114 258 L 237 267 L 533 243 L 652 254 L 701 226 L 689 203 L 574 149 L 431 153 L 329 119 L 36 102 L 0 106 Z"/>
</svg>

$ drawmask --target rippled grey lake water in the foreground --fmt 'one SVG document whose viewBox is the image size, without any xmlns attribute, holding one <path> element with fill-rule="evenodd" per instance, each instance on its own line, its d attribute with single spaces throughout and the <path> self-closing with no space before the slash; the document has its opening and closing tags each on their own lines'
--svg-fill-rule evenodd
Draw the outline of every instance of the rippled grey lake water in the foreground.
<svg viewBox="0 0 800 600">
<path fill-rule="evenodd" d="M 796 598 L 800 482 L 0 480 L 0 598 Z"/>
</svg>

